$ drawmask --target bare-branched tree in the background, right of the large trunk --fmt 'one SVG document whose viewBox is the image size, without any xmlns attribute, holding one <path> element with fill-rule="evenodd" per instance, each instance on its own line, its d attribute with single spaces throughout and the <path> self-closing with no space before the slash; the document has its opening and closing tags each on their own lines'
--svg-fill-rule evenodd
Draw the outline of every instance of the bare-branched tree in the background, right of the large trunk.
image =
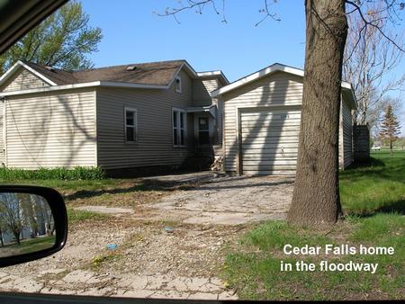
<svg viewBox="0 0 405 304">
<path fill-rule="evenodd" d="M 355 89 L 358 109 L 354 112 L 356 124 L 368 123 L 378 127 L 380 113 L 390 98 L 388 94 L 401 89 L 405 73 L 395 76 L 392 70 L 403 58 L 403 37 L 390 29 L 390 19 L 383 2 L 365 2 L 363 9 L 378 27 L 365 26 L 360 13 L 347 15 L 349 31 L 345 49 L 343 78 Z M 387 43 L 387 36 L 394 43 Z M 378 129 L 378 128 L 377 128 Z"/>
</svg>

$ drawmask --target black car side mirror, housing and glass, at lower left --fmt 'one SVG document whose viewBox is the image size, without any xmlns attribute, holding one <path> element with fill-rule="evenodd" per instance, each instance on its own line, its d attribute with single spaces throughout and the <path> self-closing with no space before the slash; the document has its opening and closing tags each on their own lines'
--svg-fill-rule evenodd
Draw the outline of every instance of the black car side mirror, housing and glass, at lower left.
<svg viewBox="0 0 405 304">
<path fill-rule="evenodd" d="M 0 186 L 0 267 L 53 255 L 67 240 L 62 196 L 37 186 Z"/>
</svg>

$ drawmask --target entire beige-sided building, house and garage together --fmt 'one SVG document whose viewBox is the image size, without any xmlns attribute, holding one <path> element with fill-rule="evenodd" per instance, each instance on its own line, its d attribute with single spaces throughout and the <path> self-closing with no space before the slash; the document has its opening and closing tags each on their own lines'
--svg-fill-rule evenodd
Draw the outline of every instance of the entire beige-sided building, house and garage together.
<svg viewBox="0 0 405 304">
<path fill-rule="evenodd" d="M 8 167 L 183 165 L 223 154 L 234 174 L 294 174 L 303 71 L 274 64 L 231 84 L 185 60 L 67 72 L 17 62 L 0 78 Z M 352 86 L 342 82 L 339 164 L 353 161 Z"/>
</svg>

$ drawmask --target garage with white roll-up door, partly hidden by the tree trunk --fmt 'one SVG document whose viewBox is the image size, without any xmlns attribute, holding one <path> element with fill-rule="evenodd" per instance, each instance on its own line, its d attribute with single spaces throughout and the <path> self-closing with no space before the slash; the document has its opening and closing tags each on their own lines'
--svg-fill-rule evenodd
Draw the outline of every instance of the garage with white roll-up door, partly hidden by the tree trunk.
<svg viewBox="0 0 405 304">
<path fill-rule="evenodd" d="M 223 166 L 237 174 L 294 174 L 301 122 L 303 71 L 274 64 L 211 92 L 223 103 Z M 339 165 L 353 162 L 356 96 L 342 82 Z"/>
</svg>

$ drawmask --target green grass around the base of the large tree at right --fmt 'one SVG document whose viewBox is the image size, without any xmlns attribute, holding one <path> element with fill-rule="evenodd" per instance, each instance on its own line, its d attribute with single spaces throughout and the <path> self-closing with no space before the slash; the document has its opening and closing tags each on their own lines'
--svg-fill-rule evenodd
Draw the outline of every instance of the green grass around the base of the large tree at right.
<svg viewBox="0 0 405 304">
<path fill-rule="evenodd" d="M 368 165 L 341 172 L 340 193 L 346 218 L 327 233 L 269 221 L 229 248 L 223 278 L 245 300 L 386 300 L 405 298 L 405 152 L 381 151 Z M 283 247 L 348 244 L 392 246 L 394 255 L 284 255 Z M 321 251 L 322 252 L 322 251 Z M 378 264 L 370 272 L 281 272 L 281 261 L 321 260 Z"/>
</svg>

